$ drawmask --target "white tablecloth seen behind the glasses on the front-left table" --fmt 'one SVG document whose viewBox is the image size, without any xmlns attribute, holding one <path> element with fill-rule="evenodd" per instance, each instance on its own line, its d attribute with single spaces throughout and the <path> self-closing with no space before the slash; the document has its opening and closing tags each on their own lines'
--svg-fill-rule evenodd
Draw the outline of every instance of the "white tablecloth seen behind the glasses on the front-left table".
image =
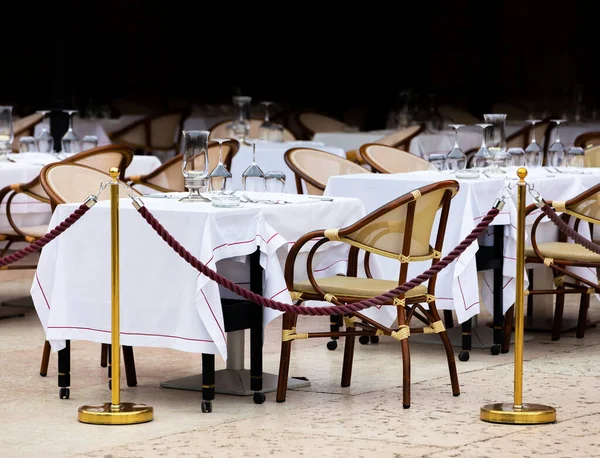
<svg viewBox="0 0 600 458">
<path fill-rule="evenodd" d="M 298 147 L 316 148 L 337 156 L 346 157 L 343 149 L 336 146 L 325 146 L 316 142 L 261 142 L 256 145 L 256 163 L 264 173 L 279 171 L 285 173 L 284 192 L 296 194 L 296 179 L 294 172 L 287 166 L 283 155 L 288 149 Z M 231 161 L 231 175 L 233 189 L 242 189 L 242 173 L 252 164 L 252 147 L 241 144 L 237 154 Z"/>
</svg>

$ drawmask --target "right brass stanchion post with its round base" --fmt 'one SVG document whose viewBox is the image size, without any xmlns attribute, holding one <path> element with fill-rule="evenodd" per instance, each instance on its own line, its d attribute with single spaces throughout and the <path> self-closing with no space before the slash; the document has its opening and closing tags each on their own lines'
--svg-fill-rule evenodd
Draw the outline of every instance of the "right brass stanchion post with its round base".
<svg viewBox="0 0 600 458">
<path fill-rule="evenodd" d="M 517 170 L 517 293 L 515 298 L 515 399 L 513 403 L 488 404 L 481 408 L 480 418 L 492 423 L 537 425 L 556 421 L 556 410 L 541 404 L 523 403 L 523 334 L 525 317 L 525 191 L 527 170 Z"/>
</svg>

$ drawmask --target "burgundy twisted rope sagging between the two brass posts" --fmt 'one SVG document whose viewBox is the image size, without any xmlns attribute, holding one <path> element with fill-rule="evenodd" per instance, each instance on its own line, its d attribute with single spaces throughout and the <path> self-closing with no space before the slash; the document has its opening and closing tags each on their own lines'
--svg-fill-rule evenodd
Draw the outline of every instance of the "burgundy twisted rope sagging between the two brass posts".
<svg viewBox="0 0 600 458">
<path fill-rule="evenodd" d="M 206 275 L 213 281 L 216 281 L 218 284 L 224 286 L 228 290 L 248 299 L 251 302 L 256 304 L 260 304 L 264 307 L 272 308 L 275 310 L 279 310 L 281 312 L 290 312 L 296 313 L 298 315 L 344 315 L 347 313 L 355 313 L 361 310 L 367 309 L 373 306 L 384 305 L 389 303 L 390 300 L 393 300 L 400 294 L 406 293 L 407 291 L 413 289 L 415 286 L 420 285 L 421 283 L 429 280 L 443 268 L 448 266 L 452 261 L 454 261 L 458 256 L 460 256 L 470 245 L 477 239 L 477 237 L 490 225 L 490 223 L 494 220 L 496 215 L 500 210 L 497 208 L 492 208 L 487 215 L 483 217 L 481 222 L 471 231 L 471 233 L 452 250 L 448 253 L 443 259 L 440 259 L 434 266 L 430 269 L 423 272 L 418 277 L 413 278 L 411 281 L 404 283 L 401 286 L 398 286 L 387 293 L 384 293 L 380 296 L 373 297 L 371 299 L 363 299 L 360 302 L 355 302 L 353 304 L 346 305 L 336 305 L 329 307 L 298 307 L 290 304 L 284 304 L 283 302 L 274 301 L 272 299 L 268 299 L 259 294 L 253 293 L 246 288 L 242 288 L 236 283 L 232 282 L 228 278 L 219 275 L 217 272 L 212 270 L 203 264 L 200 260 L 198 260 L 195 256 L 193 256 L 189 251 L 187 251 L 181 244 L 173 238 L 169 232 L 160 224 L 156 218 L 150 213 L 150 211 L 142 206 L 138 209 L 142 218 L 144 218 L 150 226 L 156 231 L 156 233 L 165 241 L 167 244 L 173 248 L 173 250 L 185 259 L 192 267 L 196 268 L 200 273 Z"/>
</svg>

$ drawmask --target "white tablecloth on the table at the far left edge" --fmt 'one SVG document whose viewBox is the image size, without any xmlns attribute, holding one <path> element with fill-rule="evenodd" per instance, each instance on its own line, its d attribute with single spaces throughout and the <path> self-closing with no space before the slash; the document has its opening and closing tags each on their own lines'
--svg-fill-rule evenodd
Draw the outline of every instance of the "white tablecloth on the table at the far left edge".
<svg viewBox="0 0 600 458">
<path fill-rule="evenodd" d="M 0 189 L 15 183 L 28 183 L 40 174 L 45 164 L 57 159 L 50 154 L 25 153 L 11 155 L 17 163 L 0 164 Z M 143 175 L 150 173 L 160 165 L 154 156 L 134 156 L 126 170 L 126 175 Z M 38 226 L 50 220 L 50 205 L 37 201 L 24 194 L 17 195 L 11 204 L 12 217 L 18 226 Z M 6 202 L 0 205 L 0 231 L 10 227 L 6 219 Z"/>
</svg>

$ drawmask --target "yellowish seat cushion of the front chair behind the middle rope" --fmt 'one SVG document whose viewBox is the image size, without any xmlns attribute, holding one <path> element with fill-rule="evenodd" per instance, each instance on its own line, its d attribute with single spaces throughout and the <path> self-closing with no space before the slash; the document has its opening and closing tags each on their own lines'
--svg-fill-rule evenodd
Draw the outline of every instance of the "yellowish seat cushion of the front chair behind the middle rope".
<svg viewBox="0 0 600 458">
<path fill-rule="evenodd" d="M 333 294 L 334 296 L 350 296 L 359 298 L 379 296 L 380 294 L 387 293 L 398 286 L 398 282 L 391 280 L 342 277 L 340 275 L 318 278 L 316 281 L 317 285 L 319 285 L 326 293 Z M 294 283 L 294 291 L 301 293 L 315 292 L 310 284 L 310 281 L 308 280 Z M 419 285 L 416 288 L 408 291 L 406 293 L 406 297 L 425 296 L 426 294 L 427 287 L 424 285 Z"/>
</svg>

